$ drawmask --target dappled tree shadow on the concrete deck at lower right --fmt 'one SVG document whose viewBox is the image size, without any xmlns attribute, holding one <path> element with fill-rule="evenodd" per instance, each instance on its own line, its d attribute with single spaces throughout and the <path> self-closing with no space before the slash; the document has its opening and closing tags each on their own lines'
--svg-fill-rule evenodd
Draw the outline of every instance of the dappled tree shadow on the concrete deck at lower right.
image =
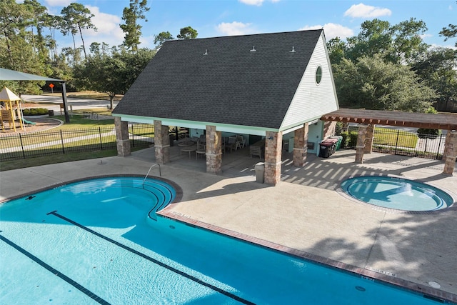
<svg viewBox="0 0 457 305">
<path fill-rule="evenodd" d="M 457 291 L 456 263 L 449 257 L 457 243 L 456 214 L 455 206 L 436 215 L 387 214 L 379 228 L 366 232 L 374 236 L 371 246 L 327 237 L 301 250 L 336 261 L 355 261 L 366 252 L 366 269 L 424 287 L 436 281 L 443 291 Z"/>
</svg>

